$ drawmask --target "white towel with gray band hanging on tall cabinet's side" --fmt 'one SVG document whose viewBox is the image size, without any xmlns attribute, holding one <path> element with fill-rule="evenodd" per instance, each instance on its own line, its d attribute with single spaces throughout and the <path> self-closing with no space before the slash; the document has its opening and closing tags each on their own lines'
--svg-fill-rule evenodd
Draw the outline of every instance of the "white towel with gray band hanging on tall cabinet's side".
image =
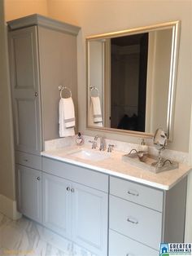
<svg viewBox="0 0 192 256">
<path fill-rule="evenodd" d="M 72 97 L 59 100 L 59 136 L 75 135 L 75 110 Z"/>
</svg>

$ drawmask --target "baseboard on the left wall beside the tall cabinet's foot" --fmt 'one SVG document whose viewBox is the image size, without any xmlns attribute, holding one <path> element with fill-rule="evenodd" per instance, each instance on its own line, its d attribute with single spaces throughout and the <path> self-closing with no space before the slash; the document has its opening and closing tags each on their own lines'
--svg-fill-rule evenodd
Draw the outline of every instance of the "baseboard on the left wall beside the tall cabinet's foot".
<svg viewBox="0 0 192 256">
<path fill-rule="evenodd" d="M 14 220 L 22 217 L 22 214 L 20 214 L 16 209 L 16 201 L 13 201 L 3 195 L 0 195 L 0 212 Z"/>
</svg>

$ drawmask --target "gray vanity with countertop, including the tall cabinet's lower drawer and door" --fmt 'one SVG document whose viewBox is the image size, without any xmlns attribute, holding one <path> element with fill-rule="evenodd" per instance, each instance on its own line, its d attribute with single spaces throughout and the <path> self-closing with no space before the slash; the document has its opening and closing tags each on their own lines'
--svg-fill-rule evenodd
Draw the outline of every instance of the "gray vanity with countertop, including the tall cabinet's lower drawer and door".
<svg viewBox="0 0 192 256">
<path fill-rule="evenodd" d="M 160 242 L 184 241 L 187 166 L 153 174 L 122 152 L 96 149 L 106 157 L 94 161 L 79 150 L 17 155 L 21 213 L 96 255 L 158 255 Z"/>
</svg>

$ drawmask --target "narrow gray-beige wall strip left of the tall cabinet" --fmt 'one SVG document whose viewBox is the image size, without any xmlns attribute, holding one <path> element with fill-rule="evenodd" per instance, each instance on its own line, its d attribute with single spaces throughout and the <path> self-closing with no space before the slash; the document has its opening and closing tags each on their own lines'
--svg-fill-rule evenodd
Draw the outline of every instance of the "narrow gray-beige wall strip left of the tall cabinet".
<svg viewBox="0 0 192 256">
<path fill-rule="evenodd" d="M 0 194 L 15 199 L 11 95 L 8 79 L 7 33 L 0 1 Z"/>
</svg>

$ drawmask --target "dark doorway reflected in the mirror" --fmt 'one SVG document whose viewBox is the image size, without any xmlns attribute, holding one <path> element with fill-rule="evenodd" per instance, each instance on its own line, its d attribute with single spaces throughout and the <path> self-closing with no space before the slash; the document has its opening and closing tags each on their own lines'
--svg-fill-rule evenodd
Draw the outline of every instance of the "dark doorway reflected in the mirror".
<svg viewBox="0 0 192 256">
<path fill-rule="evenodd" d="M 111 128 L 145 131 L 148 38 L 111 38 Z"/>
</svg>

